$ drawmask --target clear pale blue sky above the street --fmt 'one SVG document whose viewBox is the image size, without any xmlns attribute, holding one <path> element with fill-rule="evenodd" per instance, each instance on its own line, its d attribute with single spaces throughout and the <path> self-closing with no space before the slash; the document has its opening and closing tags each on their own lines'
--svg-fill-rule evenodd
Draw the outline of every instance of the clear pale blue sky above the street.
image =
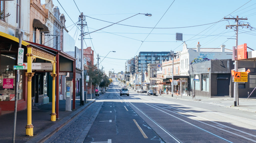
<svg viewBox="0 0 256 143">
<path fill-rule="evenodd" d="M 44 4 L 44 0 L 41 3 Z M 86 15 L 84 32 L 89 33 L 111 25 L 110 22 L 128 18 L 120 22 L 124 25 L 114 24 L 84 36 L 83 48 L 92 47 L 94 64 L 97 64 L 99 54 L 99 68 L 103 67 L 106 73 L 110 70 L 116 73 L 125 71 L 125 61 L 134 58 L 140 51 L 177 52 L 182 50 L 183 42 L 188 48 L 196 47 L 200 42 L 201 48 L 226 45 L 225 48 L 232 49 L 236 46 L 233 39 L 236 32 L 234 28 L 226 28 L 226 25 L 236 22 L 224 17 L 247 17 L 248 20 L 240 20 L 240 24 L 249 24 L 252 28 L 239 27 L 238 45 L 247 43 L 248 47 L 256 49 L 256 1 L 53 0 L 53 4 L 65 15 L 67 30 L 78 48 L 81 47 L 81 31 L 74 23 L 77 24 L 80 12 Z M 152 16 L 138 13 L 150 13 Z M 176 41 L 176 33 L 183 34 L 183 41 Z"/>
</svg>

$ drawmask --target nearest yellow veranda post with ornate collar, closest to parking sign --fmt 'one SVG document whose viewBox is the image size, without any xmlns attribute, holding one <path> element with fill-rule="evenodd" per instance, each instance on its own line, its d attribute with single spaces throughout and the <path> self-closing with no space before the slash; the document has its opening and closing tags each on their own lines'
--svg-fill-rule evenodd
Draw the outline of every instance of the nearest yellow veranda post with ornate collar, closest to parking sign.
<svg viewBox="0 0 256 143">
<path fill-rule="evenodd" d="M 28 46 L 28 53 L 26 54 L 28 56 L 28 70 L 26 72 L 26 76 L 28 77 L 28 122 L 26 128 L 26 135 L 33 136 L 33 125 L 32 125 L 32 101 L 31 101 L 31 82 L 32 82 L 32 76 L 34 76 L 34 73 L 32 73 L 32 47 Z"/>
</svg>

